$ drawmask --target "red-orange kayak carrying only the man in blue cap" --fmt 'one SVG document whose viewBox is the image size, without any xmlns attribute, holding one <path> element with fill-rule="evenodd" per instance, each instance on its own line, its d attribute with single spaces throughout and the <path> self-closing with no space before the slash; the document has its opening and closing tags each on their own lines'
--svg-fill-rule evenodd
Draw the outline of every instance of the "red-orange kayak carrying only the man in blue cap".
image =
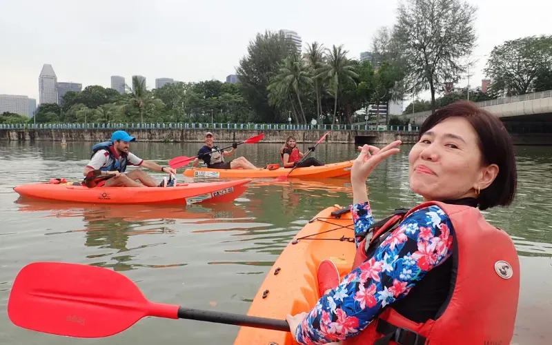
<svg viewBox="0 0 552 345">
<path fill-rule="evenodd" d="M 94 204 L 196 204 L 230 202 L 251 179 L 177 184 L 175 187 L 96 187 L 72 184 L 25 184 L 13 188 L 23 197 Z"/>
</svg>

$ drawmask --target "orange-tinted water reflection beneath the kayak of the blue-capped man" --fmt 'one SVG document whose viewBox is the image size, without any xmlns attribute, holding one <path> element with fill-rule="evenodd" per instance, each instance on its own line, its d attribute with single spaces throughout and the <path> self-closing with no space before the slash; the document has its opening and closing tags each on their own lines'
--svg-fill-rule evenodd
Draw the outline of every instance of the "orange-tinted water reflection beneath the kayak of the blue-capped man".
<svg viewBox="0 0 552 345">
<path fill-rule="evenodd" d="M 156 206 L 156 205 L 100 205 L 79 204 L 72 206 L 63 202 L 36 201 L 19 197 L 15 204 L 22 213 L 44 213 L 43 218 L 75 218 L 83 221 L 83 228 L 63 232 L 52 231 L 44 233 L 46 236 L 63 233 L 84 233 L 84 246 L 97 247 L 103 253 L 87 255 L 87 259 L 109 257 L 108 261 L 92 262 L 91 265 L 113 268 L 124 271 L 139 267 L 166 268 L 185 266 L 186 263 L 176 264 L 138 264 L 132 262 L 137 254 L 135 250 L 153 246 L 164 246 L 168 242 L 154 242 L 129 246 L 130 237 L 136 235 L 174 235 L 177 230 L 172 226 L 177 223 L 208 224 L 229 220 L 244 219 L 247 217 L 244 208 L 235 204 L 212 204 L 208 207 L 201 205 Z"/>
</svg>

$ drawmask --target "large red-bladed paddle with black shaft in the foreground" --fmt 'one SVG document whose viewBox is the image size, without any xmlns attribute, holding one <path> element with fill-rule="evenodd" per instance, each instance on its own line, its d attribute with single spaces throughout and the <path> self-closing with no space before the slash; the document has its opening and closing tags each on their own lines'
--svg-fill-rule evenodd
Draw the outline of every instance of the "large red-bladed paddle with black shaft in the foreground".
<svg viewBox="0 0 552 345">
<path fill-rule="evenodd" d="M 125 275 L 83 264 L 28 264 L 8 299 L 8 317 L 17 326 L 70 337 L 108 337 L 147 316 L 289 331 L 285 320 L 150 302 Z"/>
</svg>

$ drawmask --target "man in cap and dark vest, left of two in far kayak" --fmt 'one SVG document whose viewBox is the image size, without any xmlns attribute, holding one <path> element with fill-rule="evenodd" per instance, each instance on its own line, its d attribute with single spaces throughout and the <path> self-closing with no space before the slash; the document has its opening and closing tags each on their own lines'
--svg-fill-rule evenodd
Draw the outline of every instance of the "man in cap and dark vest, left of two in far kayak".
<svg viewBox="0 0 552 345">
<path fill-rule="evenodd" d="M 215 137 L 213 133 L 205 133 L 205 146 L 197 151 L 197 156 L 193 160 L 193 166 L 196 167 L 199 164 L 199 159 L 203 159 L 207 168 L 210 169 L 257 169 L 256 166 L 251 164 L 245 157 L 237 157 L 232 161 L 224 161 L 224 157 L 232 157 L 237 148 L 237 143 L 232 144 L 232 150 L 220 151 L 219 148 L 213 145 Z M 216 152 L 215 152 L 216 151 Z"/>
</svg>

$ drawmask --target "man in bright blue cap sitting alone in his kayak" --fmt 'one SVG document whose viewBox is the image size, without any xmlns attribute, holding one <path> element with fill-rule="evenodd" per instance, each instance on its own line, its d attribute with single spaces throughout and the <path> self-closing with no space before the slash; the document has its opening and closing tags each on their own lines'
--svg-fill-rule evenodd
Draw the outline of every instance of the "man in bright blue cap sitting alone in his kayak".
<svg viewBox="0 0 552 345">
<path fill-rule="evenodd" d="M 92 170 L 101 170 L 101 175 L 115 175 L 106 181 L 100 181 L 98 187 L 167 187 L 175 184 L 176 170 L 168 166 L 159 166 L 154 161 L 144 161 L 132 152 L 128 151 L 130 141 L 136 141 L 124 130 L 117 130 L 111 135 L 111 141 L 105 141 L 92 147 L 92 157 L 90 162 L 83 170 L 83 175 L 87 176 Z M 150 170 L 166 172 L 170 174 L 170 181 L 163 177 L 160 184 L 146 172 L 136 169 L 125 172 L 126 167 L 141 166 Z M 136 180 L 141 181 L 139 184 Z"/>
</svg>

